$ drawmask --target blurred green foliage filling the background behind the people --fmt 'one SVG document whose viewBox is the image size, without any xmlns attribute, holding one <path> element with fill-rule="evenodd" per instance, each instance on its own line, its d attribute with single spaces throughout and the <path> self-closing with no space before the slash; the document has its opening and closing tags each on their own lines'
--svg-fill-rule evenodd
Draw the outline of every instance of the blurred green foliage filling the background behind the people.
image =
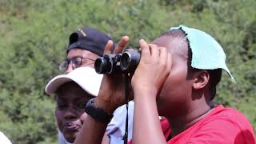
<svg viewBox="0 0 256 144">
<path fill-rule="evenodd" d="M 0 130 L 14 143 L 56 143 L 54 101 L 43 90 L 59 74 L 69 34 L 102 30 L 118 42 L 152 41 L 170 26 L 205 30 L 221 43 L 236 84 L 223 74 L 216 102 L 241 110 L 256 126 L 254 0 L 1 0 Z"/>
</svg>

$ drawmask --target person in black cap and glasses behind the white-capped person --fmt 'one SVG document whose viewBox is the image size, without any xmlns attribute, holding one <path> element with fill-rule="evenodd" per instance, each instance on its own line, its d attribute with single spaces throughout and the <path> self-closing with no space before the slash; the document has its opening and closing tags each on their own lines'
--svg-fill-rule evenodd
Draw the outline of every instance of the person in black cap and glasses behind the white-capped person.
<svg viewBox="0 0 256 144">
<path fill-rule="evenodd" d="M 111 40 L 106 34 L 99 30 L 89 27 L 82 27 L 70 34 L 69 44 L 66 47 L 66 59 L 59 65 L 59 70 L 66 74 L 78 67 L 94 67 L 94 61 L 102 56 L 106 43 Z M 125 46 L 129 41 L 128 37 L 124 37 L 117 46 Z M 113 43 L 113 41 L 111 41 Z M 114 45 L 112 45 L 114 48 Z M 94 84 L 94 80 L 86 80 L 90 85 Z M 129 102 L 128 109 L 128 139 L 131 139 L 133 128 L 134 102 Z M 126 106 L 120 106 L 114 111 L 114 118 L 108 123 L 106 134 L 102 143 L 118 144 L 123 142 L 126 133 Z M 61 132 L 58 132 L 59 144 L 66 144 Z"/>
</svg>

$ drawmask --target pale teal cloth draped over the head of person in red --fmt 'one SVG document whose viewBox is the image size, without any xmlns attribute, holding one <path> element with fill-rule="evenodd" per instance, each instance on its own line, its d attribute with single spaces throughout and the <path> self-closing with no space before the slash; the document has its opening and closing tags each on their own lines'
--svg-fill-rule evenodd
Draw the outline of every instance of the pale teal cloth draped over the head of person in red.
<svg viewBox="0 0 256 144">
<path fill-rule="evenodd" d="M 170 30 L 181 29 L 186 33 L 186 38 L 190 43 L 192 51 L 191 66 L 200 70 L 223 69 L 233 82 L 234 78 L 226 66 L 226 54 L 222 46 L 210 36 L 201 30 L 186 26 L 171 27 Z"/>
</svg>

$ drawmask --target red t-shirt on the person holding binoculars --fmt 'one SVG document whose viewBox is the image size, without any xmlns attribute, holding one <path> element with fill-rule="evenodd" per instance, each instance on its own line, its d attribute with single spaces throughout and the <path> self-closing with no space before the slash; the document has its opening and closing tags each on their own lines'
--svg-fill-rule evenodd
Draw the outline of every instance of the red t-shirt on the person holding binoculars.
<svg viewBox="0 0 256 144">
<path fill-rule="evenodd" d="M 169 122 L 161 121 L 162 131 L 167 139 L 171 133 Z M 131 144 L 132 142 L 129 142 Z M 255 144 L 255 135 L 247 118 L 231 108 L 215 106 L 206 117 L 193 126 L 171 138 L 168 144 Z"/>
</svg>

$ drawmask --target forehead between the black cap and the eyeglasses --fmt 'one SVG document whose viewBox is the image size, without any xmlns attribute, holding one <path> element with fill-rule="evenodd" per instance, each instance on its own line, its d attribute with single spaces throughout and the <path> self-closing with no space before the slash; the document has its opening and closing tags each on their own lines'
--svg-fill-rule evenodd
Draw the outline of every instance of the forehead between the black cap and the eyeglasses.
<svg viewBox="0 0 256 144">
<path fill-rule="evenodd" d="M 74 48 L 70 50 L 67 54 L 67 58 L 74 58 L 74 57 L 83 57 L 83 58 L 98 58 L 97 54 L 92 53 L 89 50 L 82 50 L 79 48 Z"/>
</svg>

